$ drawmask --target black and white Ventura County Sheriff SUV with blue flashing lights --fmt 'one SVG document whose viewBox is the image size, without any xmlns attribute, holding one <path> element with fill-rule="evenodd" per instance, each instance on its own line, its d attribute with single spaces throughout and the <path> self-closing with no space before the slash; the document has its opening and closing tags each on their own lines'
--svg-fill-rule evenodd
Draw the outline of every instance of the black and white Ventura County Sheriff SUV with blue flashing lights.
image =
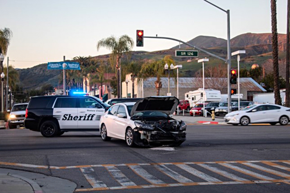
<svg viewBox="0 0 290 193">
<path fill-rule="evenodd" d="M 24 124 L 44 137 L 68 131 L 100 131 L 100 117 L 109 107 L 93 96 L 31 97 Z"/>
</svg>

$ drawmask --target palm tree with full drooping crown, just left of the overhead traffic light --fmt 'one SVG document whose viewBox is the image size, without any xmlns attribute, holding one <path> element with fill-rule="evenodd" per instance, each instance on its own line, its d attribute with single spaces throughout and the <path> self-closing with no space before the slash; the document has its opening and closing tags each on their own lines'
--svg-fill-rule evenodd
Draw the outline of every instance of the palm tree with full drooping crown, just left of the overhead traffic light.
<svg viewBox="0 0 290 193">
<path fill-rule="evenodd" d="M 121 98 L 121 57 L 123 53 L 127 53 L 132 50 L 134 41 L 128 35 L 122 35 L 120 38 L 115 38 L 111 36 L 109 38 L 104 38 L 98 41 L 97 50 L 101 47 L 105 47 L 112 51 L 112 55 L 116 59 L 117 68 L 117 95 L 118 98 Z"/>
</svg>

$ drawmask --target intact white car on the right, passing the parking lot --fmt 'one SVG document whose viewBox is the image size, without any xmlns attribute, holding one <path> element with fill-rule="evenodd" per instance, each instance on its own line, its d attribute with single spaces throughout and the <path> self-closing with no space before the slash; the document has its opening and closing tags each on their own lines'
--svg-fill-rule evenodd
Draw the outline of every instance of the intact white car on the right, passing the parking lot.
<svg viewBox="0 0 290 193">
<path fill-rule="evenodd" d="M 290 109 L 275 104 L 257 104 L 234 111 L 225 115 L 226 123 L 233 125 L 248 125 L 249 123 L 270 123 L 275 125 L 287 125 L 290 117 Z"/>
</svg>

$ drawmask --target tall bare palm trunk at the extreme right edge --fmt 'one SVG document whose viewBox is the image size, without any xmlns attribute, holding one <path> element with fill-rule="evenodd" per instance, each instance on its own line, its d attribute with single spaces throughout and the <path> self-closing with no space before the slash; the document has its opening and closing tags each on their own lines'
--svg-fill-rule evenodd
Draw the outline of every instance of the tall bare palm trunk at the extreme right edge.
<svg viewBox="0 0 290 193">
<path fill-rule="evenodd" d="M 290 74 L 289 74 L 289 57 L 290 57 L 290 33 L 289 33 L 289 23 L 290 23 L 290 0 L 287 2 L 287 38 L 286 38 L 286 97 L 285 106 L 290 107 Z"/>
</svg>

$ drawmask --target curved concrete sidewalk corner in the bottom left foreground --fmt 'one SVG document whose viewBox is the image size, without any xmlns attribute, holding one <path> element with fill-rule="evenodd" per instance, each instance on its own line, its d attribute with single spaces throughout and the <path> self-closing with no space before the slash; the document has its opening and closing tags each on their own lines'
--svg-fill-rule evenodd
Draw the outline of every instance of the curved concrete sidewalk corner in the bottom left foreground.
<svg viewBox="0 0 290 193">
<path fill-rule="evenodd" d="M 76 187 L 75 183 L 62 178 L 0 168 L 1 193 L 71 193 Z"/>
</svg>

